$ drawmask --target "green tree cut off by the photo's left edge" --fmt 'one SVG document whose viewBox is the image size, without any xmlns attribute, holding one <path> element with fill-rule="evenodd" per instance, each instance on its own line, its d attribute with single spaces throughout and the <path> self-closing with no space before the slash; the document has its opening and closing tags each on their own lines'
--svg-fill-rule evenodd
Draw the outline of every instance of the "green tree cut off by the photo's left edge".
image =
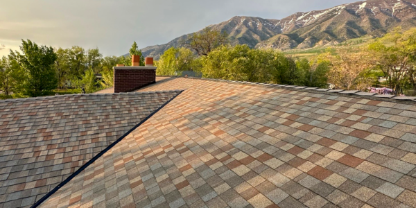
<svg viewBox="0 0 416 208">
<path fill-rule="evenodd" d="M 19 64 L 3 56 L 0 59 L 0 91 L 6 96 L 17 93 L 21 85 L 21 74 Z"/>
</svg>

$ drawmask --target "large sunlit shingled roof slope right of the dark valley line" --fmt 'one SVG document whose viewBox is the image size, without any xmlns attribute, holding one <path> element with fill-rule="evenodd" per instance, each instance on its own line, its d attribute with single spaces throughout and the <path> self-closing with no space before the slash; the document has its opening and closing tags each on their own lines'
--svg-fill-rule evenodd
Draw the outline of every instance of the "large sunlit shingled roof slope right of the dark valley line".
<svg viewBox="0 0 416 208">
<path fill-rule="evenodd" d="M 141 90 L 174 88 L 42 207 L 416 207 L 410 101 L 189 78 Z"/>
</svg>

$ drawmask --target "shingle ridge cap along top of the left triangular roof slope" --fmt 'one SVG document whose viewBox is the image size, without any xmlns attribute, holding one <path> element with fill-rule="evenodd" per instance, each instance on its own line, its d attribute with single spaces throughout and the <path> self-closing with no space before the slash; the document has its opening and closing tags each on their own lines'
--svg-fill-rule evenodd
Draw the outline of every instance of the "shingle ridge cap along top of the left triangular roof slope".
<svg viewBox="0 0 416 208">
<path fill-rule="evenodd" d="M 123 95 L 123 94 L 156 94 L 156 93 L 165 93 L 165 92 L 182 92 L 184 89 L 171 89 L 171 90 L 162 90 L 162 91 L 148 91 L 148 92 L 119 92 L 119 93 L 107 93 L 107 94 L 64 94 L 56 96 L 39 96 L 39 97 L 30 97 L 30 98 L 11 98 L 0 100 L 0 103 L 12 103 L 12 102 L 23 102 L 23 101 L 43 101 L 53 98 L 60 97 L 71 97 L 71 96 L 113 96 L 113 95 Z"/>
</svg>

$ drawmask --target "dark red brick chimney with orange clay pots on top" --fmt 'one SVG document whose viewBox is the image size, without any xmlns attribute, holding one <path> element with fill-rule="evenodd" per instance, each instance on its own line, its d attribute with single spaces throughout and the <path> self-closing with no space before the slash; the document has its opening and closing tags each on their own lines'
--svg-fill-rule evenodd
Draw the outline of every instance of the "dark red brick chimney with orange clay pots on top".
<svg viewBox="0 0 416 208">
<path fill-rule="evenodd" d="M 114 93 L 132 92 L 156 82 L 156 67 L 153 58 L 146 58 L 146 67 L 139 66 L 140 56 L 132 55 L 132 66 L 117 64 L 114 69 Z"/>
</svg>

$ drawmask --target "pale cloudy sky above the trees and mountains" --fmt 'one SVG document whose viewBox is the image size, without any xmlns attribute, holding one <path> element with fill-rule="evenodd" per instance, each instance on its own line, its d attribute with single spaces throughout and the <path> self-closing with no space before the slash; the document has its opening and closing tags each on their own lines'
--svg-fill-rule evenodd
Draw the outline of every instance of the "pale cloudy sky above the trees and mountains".
<svg viewBox="0 0 416 208">
<path fill-rule="evenodd" d="M 322 10 L 352 0 L 13 0 L 0 1 L 0 56 L 18 50 L 21 40 L 54 48 L 98 47 L 123 55 L 165 44 L 234 16 L 281 19 L 295 12 Z"/>
</svg>

